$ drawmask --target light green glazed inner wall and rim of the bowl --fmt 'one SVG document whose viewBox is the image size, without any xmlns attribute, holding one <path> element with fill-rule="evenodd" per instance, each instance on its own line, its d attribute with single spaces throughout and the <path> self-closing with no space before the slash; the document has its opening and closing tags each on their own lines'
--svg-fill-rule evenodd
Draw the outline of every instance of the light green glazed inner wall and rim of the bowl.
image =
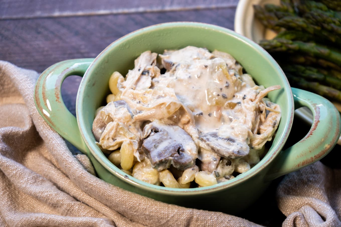
<svg viewBox="0 0 341 227">
<path fill-rule="evenodd" d="M 260 46 L 251 40 L 218 26 L 193 22 L 165 23 L 147 27 L 128 34 L 110 44 L 90 65 L 84 75 L 76 103 L 78 125 L 85 143 L 92 155 L 113 175 L 122 177 L 123 171 L 113 165 L 95 144 L 91 132 L 95 110 L 104 104 L 109 93 L 108 80 L 114 71 L 126 75 L 134 68 L 134 60 L 144 51 L 163 53 L 165 49 L 180 49 L 186 46 L 205 47 L 210 51 L 215 49 L 227 52 L 241 63 L 243 68 L 251 74 L 255 82 L 265 87 L 281 85 L 281 89 L 270 92 L 268 98 L 281 107 L 282 117 L 273 139 L 272 145 L 265 157 L 246 173 L 224 183 L 219 183 L 205 189 L 220 190 L 223 187 L 238 183 L 238 181 L 252 177 L 269 163 L 278 153 L 288 136 L 292 126 L 293 97 L 291 88 L 278 64 Z M 275 154 L 275 155 L 274 155 Z M 148 190 L 179 192 L 201 191 L 203 188 L 171 189 L 151 185 L 133 177 L 127 179 L 136 187 Z"/>
</svg>

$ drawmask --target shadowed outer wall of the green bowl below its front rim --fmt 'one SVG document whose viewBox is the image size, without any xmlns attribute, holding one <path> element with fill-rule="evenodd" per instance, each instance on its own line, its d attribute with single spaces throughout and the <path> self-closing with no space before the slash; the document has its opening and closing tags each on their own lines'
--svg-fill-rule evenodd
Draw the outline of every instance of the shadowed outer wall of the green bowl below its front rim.
<svg viewBox="0 0 341 227">
<path fill-rule="evenodd" d="M 223 190 L 201 188 L 201 193 L 195 194 L 186 190 L 182 190 L 182 193 L 174 193 L 168 190 L 162 191 L 164 190 L 162 188 L 159 192 L 154 192 L 153 190 L 142 189 L 134 183 L 127 182 L 127 179 L 129 180 L 127 175 L 125 175 L 127 179 L 113 175 L 91 153 L 88 157 L 92 161 L 98 177 L 115 186 L 168 204 L 228 214 L 238 214 L 252 205 L 270 183 L 270 181 L 264 181 L 264 174 L 257 174 L 246 181 L 240 181 L 235 187 L 223 188 Z"/>
</svg>

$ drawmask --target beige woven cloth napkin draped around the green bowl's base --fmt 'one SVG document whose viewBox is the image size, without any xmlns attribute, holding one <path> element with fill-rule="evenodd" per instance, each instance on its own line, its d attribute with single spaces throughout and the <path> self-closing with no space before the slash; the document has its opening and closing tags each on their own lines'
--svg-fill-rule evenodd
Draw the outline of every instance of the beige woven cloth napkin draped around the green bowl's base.
<svg viewBox="0 0 341 227">
<path fill-rule="evenodd" d="M 0 226 L 257 226 L 165 204 L 95 177 L 35 109 L 38 73 L 0 61 Z M 279 185 L 283 226 L 341 226 L 341 170 L 322 163 Z"/>
</svg>

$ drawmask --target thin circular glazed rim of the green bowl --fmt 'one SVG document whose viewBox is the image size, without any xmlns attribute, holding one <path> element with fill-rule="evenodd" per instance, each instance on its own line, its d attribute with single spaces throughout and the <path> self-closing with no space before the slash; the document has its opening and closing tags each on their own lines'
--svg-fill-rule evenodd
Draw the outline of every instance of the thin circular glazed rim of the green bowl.
<svg viewBox="0 0 341 227">
<path fill-rule="evenodd" d="M 85 97 L 84 95 L 84 88 L 87 83 L 87 78 L 91 77 L 91 75 L 94 75 L 93 68 L 97 64 L 100 58 L 103 57 L 103 55 L 106 55 L 110 52 L 110 49 L 113 48 L 114 46 L 125 42 L 131 37 L 134 37 L 136 35 L 140 35 L 144 32 L 148 31 L 153 31 L 155 29 L 160 29 L 160 28 L 167 28 L 167 27 L 195 27 L 195 28 L 204 28 L 204 29 L 212 29 L 216 30 L 218 32 L 226 33 L 228 35 L 232 35 L 236 37 L 237 39 L 241 40 L 241 42 L 246 43 L 251 45 L 254 49 L 256 49 L 261 55 L 264 55 L 265 58 L 275 67 L 279 74 L 281 75 L 283 81 L 285 82 L 285 92 L 287 99 L 290 100 L 289 107 L 291 108 L 290 114 L 288 114 L 288 124 L 285 126 L 285 129 L 283 131 L 282 137 L 278 142 L 277 147 L 272 148 L 272 153 L 270 156 L 266 155 L 263 159 L 261 159 L 260 162 L 258 162 L 254 167 L 252 167 L 249 171 L 238 175 L 238 177 L 228 180 L 226 182 L 221 182 L 218 184 L 214 184 L 211 186 L 207 187 L 202 187 L 202 188 L 190 188 L 190 189 L 174 189 L 174 188 L 166 188 L 158 185 L 153 185 L 150 183 L 146 183 L 144 181 L 138 180 L 132 176 L 127 175 L 124 173 L 122 170 L 120 170 L 118 167 L 116 167 L 114 164 L 112 164 L 102 152 L 99 152 L 99 149 L 95 148 L 97 146 L 94 142 L 90 140 L 90 138 L 87 136 L 87 132 L 85 129 L 85 118 L 81 114 L 83 112 L 83 107 L 79 103 L 83 103 L 83 98 Z M 271 57 L 269 53 L 267 53 L 262 47 L 260 47 L 258 44 L 253 42 L 251 39 L 248 39 L 230 29 L 223 28 L 220 26 L 216 25 L 211 25 L 208 23 L 200 23 L 200 22 L 167 22 L 167 23 L 160 23 L 157 25 L 152 25 L 148 26 L 136 31 L 133 31 L 117 40 L 115 40 L 113 43 L 108 45 L 95 59 L 94 61 L 90 64 L 89 68 L 85 72 L 79 88 L 77 92 L 77 98 L 76 98 L 76 118 L 77 118 L 77 123 L 79 127 L 79 131 L 81 133 L 81 136 L 87 145 L 89 151 L 91 152 L 91 155 L 112 175 L 116 176 L 117 178 L 123 180 L 124 182 L 127 182 L 131 184 L 133 187 L 149 191 L 149 192 L 154 192 L 157 194 L 173 194 L 173 195 L 179 195 L 179 196 L 188 196 L 188 195 L 200 195 L 200 194 L 207 194 L 207 193 L 212 193 L 212 192 L 218 192 L 222 190 L 226 190 L 227 188 L 232 188 L 235 187 L 236 185 L 240 184 L 243 181 L 246 181 L 247 179 L 257 175 L 260 173 L 266 166 L 269 166 L 270 162 L 275 159 L 275 157 L 278 155 L 278 153 L 282 150 L 285 141 L 287 140 L 288 134 L 291 131 L 291 127 L 293 124 L 293 115 L 294 115 L 294 100 L 293 100 L 293 94 L 290 88 L 290 85 L 284 75 L 284 72 L 280 68 L 280 66 L 277 64 L 277 62 Z M 95 149 L 93 149 L 95 148 Z M 268 156 L 268 157 L 267 157 Z M 262 165 L 260 163 L 263 163 Z M 258 165 L 260 164 L 260 165 Z M 258 166 L 257 166 L 258 165 Z M 257 166 L 257 167 L 256 167 Z"/>
</svg>

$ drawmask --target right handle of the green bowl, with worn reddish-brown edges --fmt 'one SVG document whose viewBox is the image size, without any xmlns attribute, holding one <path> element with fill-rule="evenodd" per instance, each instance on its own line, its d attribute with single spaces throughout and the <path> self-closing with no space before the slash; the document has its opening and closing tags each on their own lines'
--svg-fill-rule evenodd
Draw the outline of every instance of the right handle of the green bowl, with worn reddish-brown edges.
<svg viewBox="0 0 341 227">
<path fill-rule="evenodd" d="M 295 109 L 308 107 L 313 113 L 313 124 L 302 140 L 278 154 L 265 176 L 266 181 L 322 159 L 335 146 L 340 136 L 340 114 L 330 101 L 297 88 L 292 88 L 292 92 Z"/>
</svg>

